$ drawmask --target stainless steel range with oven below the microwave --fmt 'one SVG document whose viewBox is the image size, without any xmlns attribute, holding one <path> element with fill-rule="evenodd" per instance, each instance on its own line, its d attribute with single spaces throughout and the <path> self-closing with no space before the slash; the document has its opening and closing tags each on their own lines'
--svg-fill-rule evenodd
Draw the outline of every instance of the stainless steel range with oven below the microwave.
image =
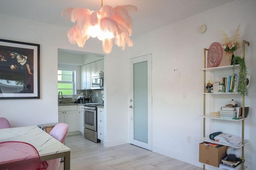
<svg viewBox="0 0 256 170">
<path fill-rule="evenodd" d="M 96 143 L 100 142 L 97 138 L 97 106 L 102 103 L 87 103 L 84 105 L 84 137 Z"/>
</svg>

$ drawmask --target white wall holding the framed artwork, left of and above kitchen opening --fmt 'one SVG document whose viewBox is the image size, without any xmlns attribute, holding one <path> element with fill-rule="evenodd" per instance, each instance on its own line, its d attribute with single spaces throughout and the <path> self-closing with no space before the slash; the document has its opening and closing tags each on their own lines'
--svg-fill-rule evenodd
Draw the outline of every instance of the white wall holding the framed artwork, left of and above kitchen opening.
<svg viewBox="0 0 256 170">
<path fill-rule="evenodd" d="M 0 21 L 1 39 L 40 44 L 41 94 L 35 100 L 0 100 L 0 117 L 6 117 L 12 127 L 58 122 L 58 48 L 85 52 L 90 49 L 91 53 L 100 54 L 100 41 L 89 39 L 86 47 L 79 48 L 69 43 L 69 28 L 5 15 L 0 15 Z"/>
</svg>

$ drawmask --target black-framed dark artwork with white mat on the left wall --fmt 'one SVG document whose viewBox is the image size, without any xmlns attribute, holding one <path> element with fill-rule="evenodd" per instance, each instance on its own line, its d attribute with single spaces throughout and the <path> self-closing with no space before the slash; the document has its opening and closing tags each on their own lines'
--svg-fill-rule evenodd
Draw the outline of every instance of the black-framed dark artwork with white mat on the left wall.
<svg viewBox="0 0 256 170">
<path fill-rule="evenodd" d="M 40 45 L 0 39 L 0 99 L 40 98 Z"/>
</svg>

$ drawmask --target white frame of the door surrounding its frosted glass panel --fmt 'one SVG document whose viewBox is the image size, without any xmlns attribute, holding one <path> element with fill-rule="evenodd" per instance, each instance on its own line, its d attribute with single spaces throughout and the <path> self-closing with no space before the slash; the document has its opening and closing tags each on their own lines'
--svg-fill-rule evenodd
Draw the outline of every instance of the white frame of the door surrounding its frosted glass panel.
<svg viewBox="0 0 256 170">
<path fill-rule="evenodd" d="M 134 61 L 135 60 L 135 61 Z M 133 101 L 130 102 L 130 99 L 133 100 L 133 63 L 139 63 L 143 61 L 148 61 L 148 144 L 136 141 L 133 139 L 134 127 L 133 127 L 133 108 L 129 108 L 129 106 L 134 106 Z M 142 147 L 144 149 L 152 150 L 153 145 L 153 83 L 152 83 L 152 53 L 148 53 L 146 55 L 141 55 L 138 57 L 129 59 L 129 94 L 128 94 L 128 125 L 129 125 L 129 138 L 128 141 L 132 145 L 136 145 L 138 147 Z"/>
</svg>

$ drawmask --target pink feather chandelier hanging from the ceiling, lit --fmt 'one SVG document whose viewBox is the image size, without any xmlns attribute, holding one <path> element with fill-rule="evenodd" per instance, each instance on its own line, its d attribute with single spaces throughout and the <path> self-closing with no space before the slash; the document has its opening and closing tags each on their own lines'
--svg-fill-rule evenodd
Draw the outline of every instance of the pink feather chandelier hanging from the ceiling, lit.
<svg viewBox="0 0 256 170">
<path fill-rule="evenodd" d="M 109 54 L 112 51 L 113 43 L 118 47 L 125 49 L 126 44 L 132 47 L 130 39 L 132 35 L 132 18 L 129 12 L 137 12 L 137 7 L 133 5 L 120 5 L 111 7 L 103 6 L 97 11 L 91 11 L 86 8 L 66 8 L 62 12 L 62 17 L 76 22 L 68 30 L 68 40 L 78 47 L 84 47 L 86 40 L 90 37 L 97 37 L 102 41 L 104 53 Z"/>
</svg>

